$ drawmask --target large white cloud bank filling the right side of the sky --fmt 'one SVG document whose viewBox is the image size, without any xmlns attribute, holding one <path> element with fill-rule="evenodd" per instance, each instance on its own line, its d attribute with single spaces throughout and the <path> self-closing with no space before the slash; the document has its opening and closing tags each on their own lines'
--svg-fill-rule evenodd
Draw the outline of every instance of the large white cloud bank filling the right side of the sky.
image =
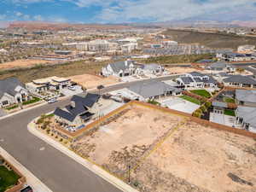
<svg viewBox="0 0 256 192">
<path fill-rule="evenodd" d="M 129 20 L 183 20 L 224 9 L 229 14 L 247 9 L 256 11 L 255 0 L 66 0 L 79 7 L 101 6 L 96 19 L 123 22 Z M 246 14 L 246 13 L 244 13 Z M 220 15 L 221 16 L 221 15 Z M 255 14 L 256 17 L 256 14 Z"/>
</svg>

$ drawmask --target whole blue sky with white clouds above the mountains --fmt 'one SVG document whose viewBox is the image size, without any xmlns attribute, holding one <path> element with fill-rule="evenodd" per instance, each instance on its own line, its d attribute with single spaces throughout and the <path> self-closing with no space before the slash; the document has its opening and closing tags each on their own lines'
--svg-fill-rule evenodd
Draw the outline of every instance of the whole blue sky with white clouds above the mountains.
<svg viewBox="0 0 256 192">
<path fill-rule="evenodd" d="M 71 23 L 256 20 L 256 0 L 0 0 L 0 20 Z"/>
</svg>

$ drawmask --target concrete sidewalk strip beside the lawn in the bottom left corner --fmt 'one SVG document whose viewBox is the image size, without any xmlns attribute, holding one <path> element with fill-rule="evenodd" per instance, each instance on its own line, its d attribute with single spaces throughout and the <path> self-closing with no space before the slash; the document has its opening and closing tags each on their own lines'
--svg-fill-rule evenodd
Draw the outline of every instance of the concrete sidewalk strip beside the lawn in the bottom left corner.
<svg viewBox="0 0 256 192">
<path fill-rule="evenodd" d="M 0 154 L 5 160 L 8 160 L 22 175 L 26 177 L 26 183 L 32 187 L 34 192 L 52 192 L 44 183 L 42 183 L 32 172 L 29 172 L 25 166 L 22 166 L 13 156 L 0 147 Z"/>
</svg>

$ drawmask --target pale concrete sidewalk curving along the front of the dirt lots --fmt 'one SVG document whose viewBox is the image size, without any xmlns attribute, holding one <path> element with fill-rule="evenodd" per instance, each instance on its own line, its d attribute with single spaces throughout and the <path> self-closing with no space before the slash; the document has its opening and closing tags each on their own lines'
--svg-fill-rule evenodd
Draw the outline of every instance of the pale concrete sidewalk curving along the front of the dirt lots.
<svg viewBox="0 0 256 192">
<path fill-rule="evenodd" d="M 66 154 L 73 160 L 77 161 L 79 164 L 84 166 L 85 168 L 89 169 L 91 172 L 94 172 L 96 175 L 102 177 L 109 183 L 112 183 L 115 187 L 118 189 L 125 191 L 125 192 L 138 192 L 137 189 L 133 189 L 130 185 L 126 184 L 122 180 L 120 180 L 117 177 L 114 177 L 110 173 L 103 170 L 101 167 L 96 166 L 96 164 L 93 164 L 93 162 L 90 162 L 89 160 L 85 160 L 84 158 L 80 157 L 78 154 L 75 154 L 73 151 L 69 150 L 65 146 L 63 146 L 61 143 L 56 142 L 54 139 L 44 135 L 44 133 L 37 130 L 35 121 L 32 120 L 32 122 L 27 125 L 28 131 L 30 131 L 34 136 L 39 137 L 42 139 L 45 143 L 49 143 L 49 145 L 53 146 L 54 148 L 61 151 L 63 154 Z"/>
</svg>

